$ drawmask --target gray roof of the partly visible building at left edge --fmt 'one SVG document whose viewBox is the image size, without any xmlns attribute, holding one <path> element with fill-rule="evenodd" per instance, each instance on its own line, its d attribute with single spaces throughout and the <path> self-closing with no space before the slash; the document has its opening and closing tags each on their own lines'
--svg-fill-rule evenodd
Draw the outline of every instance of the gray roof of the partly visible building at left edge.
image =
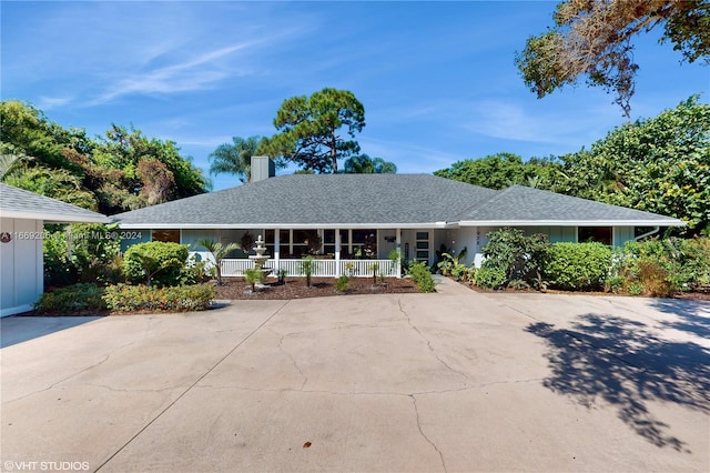
<svg viewBox="0 0 710 473">
<path fill-rule="evenodd" d="M 0 183 L 0 215 L 48 222 L 108 223 L 101 213 Z"/>
</svg>

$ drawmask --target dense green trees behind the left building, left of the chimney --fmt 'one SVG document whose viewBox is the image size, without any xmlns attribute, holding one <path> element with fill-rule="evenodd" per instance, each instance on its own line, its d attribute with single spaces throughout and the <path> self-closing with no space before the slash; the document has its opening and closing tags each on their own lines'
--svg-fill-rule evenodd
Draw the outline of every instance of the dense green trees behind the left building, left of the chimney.
<svg viewBox="0 0 710 473">
<path fill-rule="evenodd" d="M 113 124 L 102 138 L 65 129 L 41 110 L 0 103 L 3 182 L 111 214 L 195 195 L 210 181 L 173 141 Z"/>
</svg>

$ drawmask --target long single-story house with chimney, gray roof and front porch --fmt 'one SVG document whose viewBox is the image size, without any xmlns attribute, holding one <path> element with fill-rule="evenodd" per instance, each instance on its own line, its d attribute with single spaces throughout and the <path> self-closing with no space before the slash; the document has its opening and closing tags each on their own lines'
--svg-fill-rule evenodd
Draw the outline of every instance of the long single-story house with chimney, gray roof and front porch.
<svg viewBox="0 0 710 473">
<path fill-rule="evenodd" d="M 260 161 L 262 160 L 262 161 Z M 262 171 L 260 169 L 263 168 Z M 678 219 L 513 185 L 491 190 L 428 174 L 292 174 L 273 177 L 268 161 L 255 158 L 253 174 L 264 179 L 113 215 L 141 241 L 191 245 L 210 258 L 201 239 L 241 242 L 262 236 L 272 269 L 298 272 L 298 260 L 315 250 L 318 275 L 372 274 L 373 264 L 398 275 L 388 255 L 433 263 L 436 251 L 467 249 L 466 264 L 480 264 L 490 231 L 513 227 L 545 233 L 552 242 L 600 241 L 619 246 Z M 641 234 L 642 233 L 642 234 Z M 224 275 L 253 262 L 244 252 L 224 260 Z M 315 274 L 314 274 L 315 275 Z"/>
</svg>

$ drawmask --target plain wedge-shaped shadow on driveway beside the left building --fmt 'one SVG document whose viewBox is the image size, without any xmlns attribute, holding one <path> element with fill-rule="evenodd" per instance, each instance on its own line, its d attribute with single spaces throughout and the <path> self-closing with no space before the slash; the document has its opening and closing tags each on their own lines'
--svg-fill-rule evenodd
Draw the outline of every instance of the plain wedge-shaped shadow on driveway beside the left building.
<svg viewBox="0 0 710 473">
<path fill-rule="evenodd" d="M 7 316 L 0 319 L 0 348 L 92 322 L 101 316 Z"/>
</svg>

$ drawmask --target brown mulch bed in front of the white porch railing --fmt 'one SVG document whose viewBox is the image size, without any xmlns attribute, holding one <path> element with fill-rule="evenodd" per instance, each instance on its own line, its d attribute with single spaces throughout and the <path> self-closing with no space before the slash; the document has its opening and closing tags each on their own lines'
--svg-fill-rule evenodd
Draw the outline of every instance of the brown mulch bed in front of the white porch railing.
<svg viewBox="0 0 710 473">
<path fill-rule="evenodd" d="M 384 282 L 377 279 L 373 284 L 372 278 L 351 278 L 347 291 L 335 290 L 334 278 L 313 278 L 311 288 L 306 288 L 305 278 L 286 278 L 278 283 L 272 279 L 266 280 L 267 289 L 257 289 L 252 292 L 252 285 L 242 278 L 223 278 L 223 285 L 217 285 L 217 300 L 274 300 L 274 299 L 305 299 L 323 298 L 344 294 L 402 294 L 416 293 L 416 285 L 408 278 L 387 278 Z"/>
</svg>

